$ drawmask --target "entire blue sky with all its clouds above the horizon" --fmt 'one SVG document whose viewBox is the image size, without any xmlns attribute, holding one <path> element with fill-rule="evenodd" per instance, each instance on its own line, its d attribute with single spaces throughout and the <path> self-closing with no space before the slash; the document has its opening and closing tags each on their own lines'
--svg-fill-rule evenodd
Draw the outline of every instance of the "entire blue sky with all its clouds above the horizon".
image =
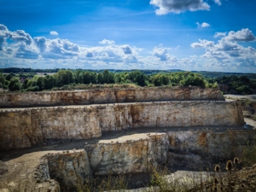
<svg viewBox="0 0 256 192">
<path fill-rule="evenodd" d="M 255 0 L 0 0 L 0 67 L 256 73 Z"/>
</svg>

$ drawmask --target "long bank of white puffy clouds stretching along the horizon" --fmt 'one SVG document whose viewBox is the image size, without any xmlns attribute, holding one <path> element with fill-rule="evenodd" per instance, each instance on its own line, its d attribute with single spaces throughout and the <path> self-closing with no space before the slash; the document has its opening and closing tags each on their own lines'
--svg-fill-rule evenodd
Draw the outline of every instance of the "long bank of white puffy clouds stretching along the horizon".
<svg viewBox="0 0 256 192">
<path fill-rule="evenodd" d="M 163 47 L 162 44 L 147 51 L 130 44 L 109 44 L 113 41 L 103 39 L 100 46 L 84 47 L 67 39 L 32 38 L 22 30 L 10 32 L 6 26 L 0 25 L 0 66 L 185 70 L 207 70 L 207 67 L 211 67 L 211 70 L 218 71 L 224 71 L 224 68 L 226 71 L 240 69 L 240 72 L 241 68 L 247 68 L 249 72 L 255 70 L 256 49 L 238 44 L 240 41 L 255 40 L 253 32 L 242 29 L 238 32 L 216 32 L 214 36 L 222 38 L 216 43 L 199 39 L 191 44 L 192 48 L 205 49 L 203 55 L 178 58 L 170 55 L 172 48 Z M 11 43 L 8 39 L 12 40 Z M 177 48 L 173 48 L 173 52 L 178 52 Z"/>
</svg>

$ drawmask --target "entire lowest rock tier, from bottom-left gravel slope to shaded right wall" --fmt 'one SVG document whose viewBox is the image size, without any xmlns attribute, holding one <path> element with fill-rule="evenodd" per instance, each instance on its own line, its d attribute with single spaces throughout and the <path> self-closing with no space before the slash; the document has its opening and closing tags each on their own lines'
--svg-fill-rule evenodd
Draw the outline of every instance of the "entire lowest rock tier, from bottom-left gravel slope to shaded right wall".
<svg viewBox="0 0 256 192">
<path fill-rule="evenodd" d="M 0 189 L 20 191 L 73 191 L 91 175 L 149 172 L 173 160 L 202 168 L 203 157 L 230 160 L 241 157 L 241 148 L 255 143 L 256 131 L 167 131 L 131 134 L 97 143 L 85 143 L 84 149 L 45 151 L 25 154 L 6 162 L 8 172 L 0 175 Z M 216 151 L 215 149 L 216 148 Z M 177 155 L 169 155 L 170 150 Z M 190 154 L 186 159 L 182 154 Z M 201 158 L 196 160 L 195 158 Z M 177 163 L 177 162 L 176 162 Z M 212 162 L 213 163 L 213 162 Z M 183 167 L 184 168 L 184 167 Z M 207 165 L 209 170 L 212 166 Z M 60 185 L 61 188 L 60 188 Z M 8 191 L 7 190 L 7 191 Z"/>
</svg>

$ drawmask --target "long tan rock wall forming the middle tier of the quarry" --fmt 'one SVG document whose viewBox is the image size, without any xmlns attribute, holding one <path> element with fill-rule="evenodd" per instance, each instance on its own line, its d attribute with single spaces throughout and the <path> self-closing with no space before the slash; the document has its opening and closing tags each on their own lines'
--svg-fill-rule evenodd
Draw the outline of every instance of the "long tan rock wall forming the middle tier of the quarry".
<svg viewBox="0 0 256 192">
<path fill-rule="evenodd" d="M 243 125 L 237 102 L 140 102 L 0 110 L 0 150 L 141 127 Z"/>
</svg>

